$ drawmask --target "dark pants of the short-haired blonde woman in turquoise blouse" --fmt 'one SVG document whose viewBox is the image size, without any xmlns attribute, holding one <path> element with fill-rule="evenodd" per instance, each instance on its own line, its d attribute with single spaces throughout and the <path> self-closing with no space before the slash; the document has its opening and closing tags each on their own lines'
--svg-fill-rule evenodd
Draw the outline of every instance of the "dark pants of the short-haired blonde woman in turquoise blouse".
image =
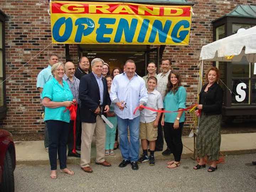
<svg viewBox="0 0 256 192">
<path fill-rule="evenodd" d="M 48 120 L 49 160 L 51 170 L 57 170 L 57 153 L 60 169 L 66 168 L 66 144 L 68 142 L 69 123 Z"/>
</svg>

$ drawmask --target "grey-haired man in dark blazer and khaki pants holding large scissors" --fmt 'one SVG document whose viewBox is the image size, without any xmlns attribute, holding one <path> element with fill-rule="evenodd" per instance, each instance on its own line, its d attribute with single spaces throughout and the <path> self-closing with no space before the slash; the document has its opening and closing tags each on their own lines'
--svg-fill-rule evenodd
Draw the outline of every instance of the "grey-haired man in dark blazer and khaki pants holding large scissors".
<svg viewBox="0 0 256 192">
<path fill-rule="evenodd" d="M 82 76 L 79 85 L 80 119 L 82 122 L 81 136 L 81 169 L 92 172 L 90 167 L 91 142 L 95 134 L 96 139 L 96 164 L 106 167 L 111 166 L 105 160 L 105 123 L 100 114 L 110 110 L 110 96 L 108 94 L 107 81 L 102 77 L 104 61 L 95 58 L 91 62 L 92 73 Z M 106 116 L 106 115 L 105 115 Z"/>
</svg>

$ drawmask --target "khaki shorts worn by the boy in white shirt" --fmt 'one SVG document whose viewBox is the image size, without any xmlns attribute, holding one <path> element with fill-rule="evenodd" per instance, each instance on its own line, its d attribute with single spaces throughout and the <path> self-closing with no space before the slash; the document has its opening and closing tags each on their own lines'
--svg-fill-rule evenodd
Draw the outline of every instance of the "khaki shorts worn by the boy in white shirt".
<svg viewBox="0 0 256 192">
<path fill-rule="evenodd" d="M 140 139 L 155 141 L 158 136 L 158 127 L 154 127 L 154 121 L 150 123 L 140 122 Z"/>
</svg>

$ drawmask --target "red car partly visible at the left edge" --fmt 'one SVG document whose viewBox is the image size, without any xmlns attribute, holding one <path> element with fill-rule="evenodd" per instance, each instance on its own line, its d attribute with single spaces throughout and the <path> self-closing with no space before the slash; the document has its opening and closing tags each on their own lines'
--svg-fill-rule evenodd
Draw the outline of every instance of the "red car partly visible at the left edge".
<svg viewBox="0 0 256 192">
<path fill-rule="evenodd" d="M 15 146 L 12 134 L 0 129 L 0 192 L 14 192 Z"/>
</svg>

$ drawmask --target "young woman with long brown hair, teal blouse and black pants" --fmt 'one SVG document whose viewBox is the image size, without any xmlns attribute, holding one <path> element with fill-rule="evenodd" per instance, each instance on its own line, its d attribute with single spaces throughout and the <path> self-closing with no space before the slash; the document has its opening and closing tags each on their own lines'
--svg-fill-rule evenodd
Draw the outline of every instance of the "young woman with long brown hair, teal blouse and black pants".
<svg viewBox="0 0 256 192">
<path fill-rule="evenodd" d="M 181 86 L 181 76 L 177 70 L 172 70 L 168 76 L 164 110 L 177 111 L 186 108 L 186 89 Z M 164 126 L 164 137 L 167 147 L 174 155 L 174 160 L 167 162 L 168 168 L 180 166 L 183 144 L 182 128 L 185 122 L 185 112 L 164 113 L 161 124 Z"/>
</svg>

